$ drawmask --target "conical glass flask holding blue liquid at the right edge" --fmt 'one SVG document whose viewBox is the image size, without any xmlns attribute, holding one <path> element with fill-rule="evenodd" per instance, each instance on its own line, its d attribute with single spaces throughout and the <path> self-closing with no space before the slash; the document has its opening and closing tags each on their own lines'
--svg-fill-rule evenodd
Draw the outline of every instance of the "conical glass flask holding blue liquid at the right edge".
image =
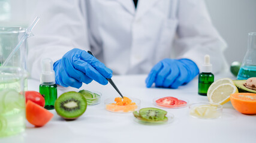
<svg viewBox="0 0 256 143">
<path fill-rule="evenodd" d="M 237 74 L 239 80 L 249 77 L 256 77 L 256 32 L 248 34 L 248 49 Z"/>
</svg>

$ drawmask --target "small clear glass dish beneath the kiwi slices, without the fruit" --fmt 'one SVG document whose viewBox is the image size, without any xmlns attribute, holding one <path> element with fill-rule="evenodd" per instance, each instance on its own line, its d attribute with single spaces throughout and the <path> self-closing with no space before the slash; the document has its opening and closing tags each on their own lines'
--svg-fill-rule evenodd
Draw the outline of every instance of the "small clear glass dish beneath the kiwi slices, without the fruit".
<svg viewBox="0 0 256 143">
<path fill-rule="evenodd" d="M 166 117 L 168 118 L 167 122 L 152 122 L 147 120 L 140 120 L 137 117 L 134 117 L 134 121 L 143 125 L 165 125 L 170 124 L 174 120 L 174 115 L 171 113 L 167 113 Z"/>
</svg>

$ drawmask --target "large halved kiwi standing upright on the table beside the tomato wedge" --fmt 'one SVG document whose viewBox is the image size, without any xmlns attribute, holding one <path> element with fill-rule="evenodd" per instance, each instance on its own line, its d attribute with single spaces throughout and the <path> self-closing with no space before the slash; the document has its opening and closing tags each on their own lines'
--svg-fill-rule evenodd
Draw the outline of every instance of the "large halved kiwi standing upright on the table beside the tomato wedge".
<svg viewBox="0 0 256 143">
<path fill-rule="evenodd" d="M 85 113 L 87 102 L 82 94 L 74 91 L 65 92 L 55 101 L 55 110 L 67 120 L 77 119 Z"/>
</svg>

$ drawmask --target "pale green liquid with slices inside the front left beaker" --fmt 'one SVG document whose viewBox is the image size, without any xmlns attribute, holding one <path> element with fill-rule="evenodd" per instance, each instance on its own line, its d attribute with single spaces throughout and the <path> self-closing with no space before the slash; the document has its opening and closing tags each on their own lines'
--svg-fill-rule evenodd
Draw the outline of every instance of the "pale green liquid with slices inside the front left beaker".
<svg viewBox="0 0 256 143">
<path fill-rule="evenodd" d="M 0 91 L 0 137 L 25 130 L 25 98 L 14 89 Z"/>
</svg>

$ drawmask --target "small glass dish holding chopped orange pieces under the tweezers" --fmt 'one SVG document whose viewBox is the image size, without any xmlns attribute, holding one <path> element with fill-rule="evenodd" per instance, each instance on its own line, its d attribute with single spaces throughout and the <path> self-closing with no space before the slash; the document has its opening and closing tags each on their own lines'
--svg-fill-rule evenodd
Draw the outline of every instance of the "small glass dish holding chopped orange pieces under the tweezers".
<svg viewBox="0 0 256 143">
<path fill-rule="evenodd" d="M 107 98 L 105 100 L 105 108 L 113 113 L 131 113 L 140 109 L 140 100 L 137 98 L 129 98 L 135 105 L 112 105 L 115 103 L 115 98 Z"/>
</svg>

